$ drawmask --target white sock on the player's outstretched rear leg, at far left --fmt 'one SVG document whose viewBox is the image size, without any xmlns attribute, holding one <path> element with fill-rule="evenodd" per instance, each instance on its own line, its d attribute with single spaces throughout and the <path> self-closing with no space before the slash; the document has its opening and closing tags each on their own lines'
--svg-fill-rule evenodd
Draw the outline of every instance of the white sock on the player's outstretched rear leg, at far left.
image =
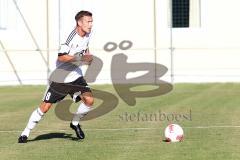
<svg viewBox="0 0 240 160">
<path fill-rule="evenodd" d="M 34 110 L 29 118 L 28 124 L 24 131 L 22 132 L 22 135 L 29 136 L 31 130 L 37 125 L 37 123 L 42 119 L 44 113 L 40 110 L 40 108 L 37 108 Z"/>
</svg>

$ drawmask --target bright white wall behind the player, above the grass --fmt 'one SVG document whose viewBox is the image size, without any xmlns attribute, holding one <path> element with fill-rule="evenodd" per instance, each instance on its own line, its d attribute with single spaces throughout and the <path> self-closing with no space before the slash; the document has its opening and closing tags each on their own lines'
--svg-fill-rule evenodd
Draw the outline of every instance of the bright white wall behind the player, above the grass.
<svg viewBox="0 0 240 160">
<path fill-rule="evenodd" d="M 47 60 L 46 1 L 16 2 Z M 201 0 L 200 27 L 172 30 L 169 27 L 169 0 L 156 0 L 156 48 L 153 0 L 71 0 L 71 3 L 61 0 L 60 26 L 58 2 L 49 0 L 51 69 L 54 69 L 59 43 L 64 42 L 64 38 L 74 27 L 75 14 L 84 9 L 92 11 L 94 15 L 91 51 L 104 62 L 96 83 L 112 82 L 112 57 L 120 53 L 128 56 L 128 63 L 157 62 L 165 65 L 169 70 L 161 79 L 169 82 L 171 71 L 174 82 L 240 81 L 240 22 L 237 20 L 240 15 L 237 8 L 240 5 L 239 0 Z M 8 3 L 7 29 L 0 30 L 0 40 L 23 84 L 45 84 L 47 67 L 43 58 L 36 51 L 37 46 L 13 1 Z M 103 50 L 107 42 L 119 44 L 123 40 L 131 41 L 133 46 L 129 50 Z M 19 84 L 5 53 L 1 48 L 0 50 L 0 85 Z M 128 77 L 141 73 L 129 73 Z M 154 78 L 152 81 L 154 82 Z"/>
</svg>

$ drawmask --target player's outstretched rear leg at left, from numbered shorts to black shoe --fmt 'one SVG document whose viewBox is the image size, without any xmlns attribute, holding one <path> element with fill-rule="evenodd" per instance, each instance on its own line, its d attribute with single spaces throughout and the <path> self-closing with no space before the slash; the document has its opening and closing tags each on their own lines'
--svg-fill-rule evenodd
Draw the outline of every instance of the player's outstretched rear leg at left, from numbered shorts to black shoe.
<svg viewBox="0 0 240 160">
<path fill-rule="evenodd" d="M 46 93 L 43 97 L 43 102 L 37 109 L 32 112 L 26 128 L 23 130 L 20 137 L 18 138 L 18 143 L 26 143 L 31 130 L 42 119 L 44 114 L 51 108 L 52 103 L 56 103 L 57 101 L 62 100 L 66 96 L 66 94 L 58 91 L 56 92 L 56 89 L 58 88 L 54 87 L 54 85 L 50 85 L 50 87 L 47 88 Z"/>
</svg>

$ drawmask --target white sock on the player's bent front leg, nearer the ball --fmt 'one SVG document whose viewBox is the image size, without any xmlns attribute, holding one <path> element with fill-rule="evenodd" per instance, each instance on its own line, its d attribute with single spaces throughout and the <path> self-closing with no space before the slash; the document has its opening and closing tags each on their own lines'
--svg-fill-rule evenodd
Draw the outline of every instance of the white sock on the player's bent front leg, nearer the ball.
<svg viewBox="0 0 240 160">
<path fill-rule="evenodd" d="M 81 118 L 83 118 L 92 107 L 86 106 L 84 103 L 81 103 L 78 107 L 76 114 L 73 116 L 72 124 L 78 125 Z"/>
</svg>

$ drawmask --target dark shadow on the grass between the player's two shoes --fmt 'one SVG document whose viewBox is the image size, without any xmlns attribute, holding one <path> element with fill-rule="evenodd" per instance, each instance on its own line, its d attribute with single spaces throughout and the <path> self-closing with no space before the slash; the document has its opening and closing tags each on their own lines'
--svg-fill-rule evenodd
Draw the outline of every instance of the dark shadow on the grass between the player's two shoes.
<svg viewBox="0 0 240 160">
<path fill-rule="evenodd" d="M 28 142 L 33 141 L 41 141 L 41 140 L 49 140 L 49 139 L 69 139 L 73 141 L 82 141 L 79 140 L 77 137 L 72 137 L 72 134 L 66 134 L 66 133 L 48 133 L 48 134 L 42 134 L 37 136 L 34 139 L 28 140 Z"/>
</svg>

